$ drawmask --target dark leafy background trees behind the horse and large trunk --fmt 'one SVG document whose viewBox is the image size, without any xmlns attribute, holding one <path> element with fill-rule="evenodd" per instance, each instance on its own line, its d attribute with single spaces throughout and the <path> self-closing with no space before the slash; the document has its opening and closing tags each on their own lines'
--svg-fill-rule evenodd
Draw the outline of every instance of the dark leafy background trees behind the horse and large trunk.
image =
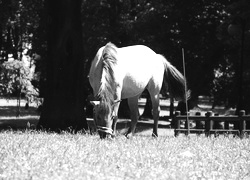
<svg viewBox="0 0 250 180">
<path fill-rule="evenodd" d="M 85 78 L 97 49 L 109 41 L 118 47 L 147 45 L 180 70 L 184 48 L 191 101 L 209 95 L 214 97 L 215 105 L 236 106 L 240 95 L 241 108 L 250 110 L 249 9 L 247 0 L 82 0 Z M 49 73 L 45 68 L 49 63 L 46 24 L 43 0 L 0 1 L 1 63 L 10 54 L 18 59 L 19 52 L 31 44 L 29 53 L 40 72 L 40 83 L 34 85 L 42 96 Z"/>
</svg>

